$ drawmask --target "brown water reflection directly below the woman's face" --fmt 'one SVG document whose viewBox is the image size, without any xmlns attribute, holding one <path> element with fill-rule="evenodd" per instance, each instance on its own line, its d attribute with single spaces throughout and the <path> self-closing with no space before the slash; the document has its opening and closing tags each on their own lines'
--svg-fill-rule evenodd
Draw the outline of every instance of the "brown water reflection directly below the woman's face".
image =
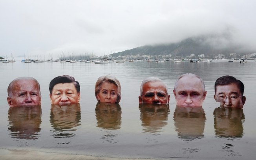
<svg viewBox="0 0 256 160">
<path fill-rule="evenodd" d="M 97 103 L 95 107 L 97 127 L 111 130 L 120 129 L 121 114 L 122 111 L 119 104 Z"/>
</svg>

